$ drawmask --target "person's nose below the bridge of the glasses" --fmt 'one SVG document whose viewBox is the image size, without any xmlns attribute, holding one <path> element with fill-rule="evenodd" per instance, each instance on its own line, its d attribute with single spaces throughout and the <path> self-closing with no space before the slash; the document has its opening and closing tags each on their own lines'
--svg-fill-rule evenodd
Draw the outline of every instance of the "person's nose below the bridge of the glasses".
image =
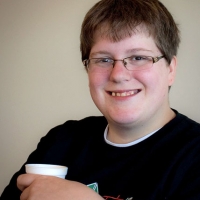
<svg viewBox="0 0 200 200">
<path fill-rule="evenodd" d="M 131 72 L 126 69 L 126 63 L 123 60 L 115 60 L 110 73 L 110 80 L 113 82 L 123 82 L 130 79 Z"/>
</svg>

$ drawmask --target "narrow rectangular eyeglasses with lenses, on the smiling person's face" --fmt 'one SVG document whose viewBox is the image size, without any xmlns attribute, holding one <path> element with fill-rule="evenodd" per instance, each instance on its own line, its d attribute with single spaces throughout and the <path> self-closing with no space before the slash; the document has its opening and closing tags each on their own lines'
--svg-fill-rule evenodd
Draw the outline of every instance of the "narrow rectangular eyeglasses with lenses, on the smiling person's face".
<svg viewBox="0 0 200 200">
<path fill-rule="evenodd" d="M 154 63 L 158 62 L 165 56 L 130 56 L 122 60 L 114 60 L 112 58 L 90 58 L 83 61 L 84 66 L 89 71 L 99 73 L 111 71 L 116 61 L 122 61 L 127 70 L 137 71 L 149 69 Z"/>
</svg>

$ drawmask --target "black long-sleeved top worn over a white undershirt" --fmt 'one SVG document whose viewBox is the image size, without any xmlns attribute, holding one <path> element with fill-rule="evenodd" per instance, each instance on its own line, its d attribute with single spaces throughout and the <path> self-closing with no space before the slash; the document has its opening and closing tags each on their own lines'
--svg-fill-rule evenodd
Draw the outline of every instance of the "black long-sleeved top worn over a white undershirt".
<svg viewBox="0 0 200 200">
<path fill-rule="evenodd" d="M 68 167 L 66 179 L 98 184 L 105 199 L 200 199 L 200 125 L 176 112 L 176 117 L 155 134 L 129 147 L 104 140 L 107 121 L 88 117 L 67 121 L 41 139 L 26 163 Z M 17 200 L 16 178 L 1 200 Z"/>
</svg>

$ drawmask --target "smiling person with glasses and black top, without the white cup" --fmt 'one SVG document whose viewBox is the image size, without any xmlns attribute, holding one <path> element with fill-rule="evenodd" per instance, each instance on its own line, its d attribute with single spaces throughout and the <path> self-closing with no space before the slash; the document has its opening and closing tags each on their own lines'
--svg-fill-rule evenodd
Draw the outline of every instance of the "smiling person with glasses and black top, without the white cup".
<svg viewBox="0 0 200 200">
<path fill-rule="evenodd" d="M 67 166 L 65 179 L 25 174 L 24 164 L 1 200 L 200 199 L 200 124 L 169 104 L 180 31 L 167 8 L 101 0 L 80 40 L 103 116 L 56 126 L 25 162 Z"/>
</svg>

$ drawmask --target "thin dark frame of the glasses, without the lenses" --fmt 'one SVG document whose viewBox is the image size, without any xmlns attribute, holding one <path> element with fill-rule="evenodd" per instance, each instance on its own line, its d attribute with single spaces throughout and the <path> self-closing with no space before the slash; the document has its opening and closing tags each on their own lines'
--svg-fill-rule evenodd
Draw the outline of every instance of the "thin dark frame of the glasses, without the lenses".
<svg viewBox="0 0 200 200">
<path fill-rule="evenodd" d="M 127 59 L 127 58 L 131 58 L 131 57 L 133 57 L 133 56 L 129 56 L 129 57 L 123 58 L 123 59 L 121 59 L 121 60 L 120 60 L 120 59 L 111 59 L 111 58 L 109 58 L 109 59 L 113 61 L 112 67 L 115 66 L 115 62 L 116 62 L 116 61 L 122 61 L 123 64 L 124 64 L 124 67 L 125 67 L 127 70 L 129 70 L 129 71 L 134 71 L 135 69 L 130 70 L 130 69 L 128 69 L 128 68 L 126 67 L 126 65 L 127 65 L 126 59 Z M 138 57 L 139 57 L 139 56 L 138 56 Z M 142 56 L 141 56 L 141 57 L 142 57 Z M 154 63 L 158 62 L 160 59 L 164 58 L 165 56 L 164 56 L 164 55 L 161 55 L 161 56 L 156 56 L 156 57 L 152 57 L 152 56 L 143 56 L 143 57 L 151 58 L 151 59 L 152 59 L 152 62 L 153 62 L 152 65 L 153 65 Z M 83 60 L 83 65 L 87 68 L 88 71 L 90 71 L 90 69 L 89 69 L 90 60 L 95 60 L 95 59 L 101 59 L 101 58 L 90 58 L 90 59 L 85 59 L 85 60 Z M 102 57 L 102 59 L 103 59 L 103 57 Z M 137 70 L 137 69 L 136 69 L 136 70 Z"/>
</svg>

